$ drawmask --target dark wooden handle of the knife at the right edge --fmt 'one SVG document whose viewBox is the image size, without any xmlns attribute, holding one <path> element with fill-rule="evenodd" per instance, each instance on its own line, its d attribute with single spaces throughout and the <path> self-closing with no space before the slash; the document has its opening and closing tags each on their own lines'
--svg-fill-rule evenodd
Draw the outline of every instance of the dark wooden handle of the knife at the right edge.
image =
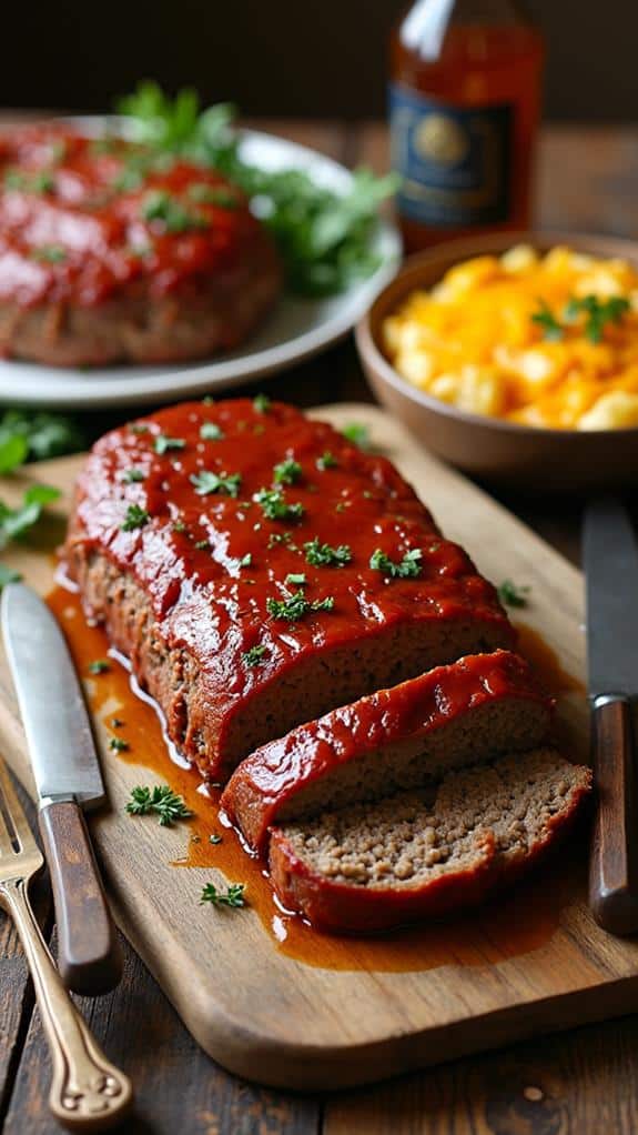
<svg viewBox="0 0 638 1135">
<path fill-rule="evenodd" d="M 602 697 L 592 712 L 598 806 L 589 863 L 589 906 L 611 934 L 638 931 L 638 801 L 631 705 Z"/>
</svg>

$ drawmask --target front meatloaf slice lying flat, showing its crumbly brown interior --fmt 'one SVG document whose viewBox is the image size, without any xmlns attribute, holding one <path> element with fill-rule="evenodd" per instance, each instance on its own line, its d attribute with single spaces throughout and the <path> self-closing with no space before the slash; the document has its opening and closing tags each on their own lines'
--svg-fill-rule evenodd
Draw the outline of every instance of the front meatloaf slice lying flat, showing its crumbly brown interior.
<svg viewBox="0 0 638 1135">
<path fill-rule="evenodd" d="M 274 827 L 270 869 L 289 910 L 335 932 L 457 913 L 529 868 L 590 789 L 552 749 L 449 773 L 402 792 Z"/>
</svg>

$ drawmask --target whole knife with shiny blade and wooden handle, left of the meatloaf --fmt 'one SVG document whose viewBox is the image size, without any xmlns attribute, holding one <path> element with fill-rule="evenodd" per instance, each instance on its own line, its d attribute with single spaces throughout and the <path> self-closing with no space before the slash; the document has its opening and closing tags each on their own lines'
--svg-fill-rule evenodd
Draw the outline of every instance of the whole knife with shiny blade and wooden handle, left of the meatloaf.
<svg viewBox="0 0 638 1135">
<path fill-rule="evenodd" d="M 58 966 L 69 989 L 93 997 L 118 983 L 121 960 L 83 815 L 105 799 L 91 722 L 63 634 L 40 596 L 9 583 L 1 621 L 39 794 Z"/>
</svg>

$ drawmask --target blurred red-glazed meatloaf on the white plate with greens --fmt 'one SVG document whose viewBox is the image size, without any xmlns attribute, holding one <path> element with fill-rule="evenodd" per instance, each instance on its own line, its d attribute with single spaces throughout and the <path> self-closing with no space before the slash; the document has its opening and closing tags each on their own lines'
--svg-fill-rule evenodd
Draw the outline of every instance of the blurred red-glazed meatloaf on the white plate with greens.
<svg viewBox="0 0 638 1135">
<path fill-rule="evenodd" d="M 59 125 L 0 135 L 0 354 L 211 355 L 241 343 L 280 288 L 269 234 L 210 169 Z"/>
</svg>

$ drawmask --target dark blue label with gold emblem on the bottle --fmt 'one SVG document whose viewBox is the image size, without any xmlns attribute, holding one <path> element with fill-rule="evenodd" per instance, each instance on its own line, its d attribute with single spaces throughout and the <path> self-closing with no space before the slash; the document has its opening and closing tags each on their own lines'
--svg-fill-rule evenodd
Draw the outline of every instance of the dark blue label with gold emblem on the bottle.
<svg viewBox="0 0 638 1135">
<path fill-rule="evenodd" d="M 423 225 L 496 225 L 510 213 L 513 107 L 459 108 L 390 86 L 399 209 Z"/>
</svg>

